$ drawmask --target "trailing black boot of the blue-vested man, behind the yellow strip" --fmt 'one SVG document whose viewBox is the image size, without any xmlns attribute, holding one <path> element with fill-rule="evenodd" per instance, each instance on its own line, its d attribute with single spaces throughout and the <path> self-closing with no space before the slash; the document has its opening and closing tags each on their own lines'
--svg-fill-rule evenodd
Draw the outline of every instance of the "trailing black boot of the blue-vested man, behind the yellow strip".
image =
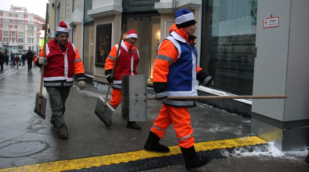
<svg viewBox="0 0 309 172">
<path fill-rule="evenodd" d="M 159 143 L 160 138 L 155 135 L 152 131 L 149 132 L 148 139 L 144 145 L 144 149 L 154 152 L 167 153 L 170 149 Z"/>
</svg>

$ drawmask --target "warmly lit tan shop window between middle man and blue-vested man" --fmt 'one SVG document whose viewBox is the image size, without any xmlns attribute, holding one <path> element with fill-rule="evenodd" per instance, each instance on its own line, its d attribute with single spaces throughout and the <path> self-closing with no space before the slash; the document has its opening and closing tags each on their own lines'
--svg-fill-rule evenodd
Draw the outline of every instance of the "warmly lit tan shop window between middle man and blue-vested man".
<svg viewBox="0 0 309 172">
<path fill-rule="evenodd" d="M 124 17 L 124 25 L 137 33 L 136 48 L 139 51 L 137 74 L 146 74 L 148 84 L 152 85 L 152 73 L 156 50 L 160 44 L 160 16 Z M 125 36 L 125 35 L 124 35 Z"/>
</svg>

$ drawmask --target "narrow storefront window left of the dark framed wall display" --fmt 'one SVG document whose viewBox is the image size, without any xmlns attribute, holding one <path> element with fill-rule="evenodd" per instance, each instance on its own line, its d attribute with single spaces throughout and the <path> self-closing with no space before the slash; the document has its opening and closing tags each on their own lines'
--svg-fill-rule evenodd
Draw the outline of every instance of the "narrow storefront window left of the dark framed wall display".
<svg viewBox="0 0 309 172">
<path fill-rule="evenodd" d="M 85 74 L 93 76 L 94 71 L 94 23 L 89 26 L 84 27 L 84 51 L 83 51 L 83 64 L 85 69 Z"/>
</svg>

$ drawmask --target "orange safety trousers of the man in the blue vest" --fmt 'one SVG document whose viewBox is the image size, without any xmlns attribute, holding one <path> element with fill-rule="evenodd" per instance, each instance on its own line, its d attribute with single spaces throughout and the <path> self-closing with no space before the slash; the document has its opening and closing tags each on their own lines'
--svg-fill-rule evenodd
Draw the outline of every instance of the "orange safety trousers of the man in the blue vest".
<svg viewBox="0 0 309 172">
<path fill-rule="evenodd" d="M 178 138 L 178 145 L 182 148 L 189 148 L 194 145 L 194 138 L 192 137 L 193 128 L 190 122 L 191 117 L 187 108 L 171 107 L 162 104 L 162 109 L 154 120 L 154 126 L 151 128 L 151 131 L 159 138 L 163 138 L 167 127 L 173 123 Z"/>
</svg>

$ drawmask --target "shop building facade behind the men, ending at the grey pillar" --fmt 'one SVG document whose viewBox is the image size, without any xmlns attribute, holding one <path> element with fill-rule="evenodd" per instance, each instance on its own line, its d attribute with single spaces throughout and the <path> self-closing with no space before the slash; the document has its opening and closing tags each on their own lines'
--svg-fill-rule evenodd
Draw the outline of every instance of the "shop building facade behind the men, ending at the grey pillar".
<svg viewBox="0 0 309 172">
<path fill-rule="evenodd" d="M 86 74 L 96 85 L 107 83 L 104 61 L 126 25 L 140 35 L 137 72 L 146 74 L 151 86 L 156 49 L 169 35 L 175 11 L 187 8 L 198 21 L 199 64 L 215 78 L 213 88 L 252 95 L 257 0 L 50 0 L 50 4 L 52 37 L 57 24 L 65 21 L 72 42 L 82 49 Z"/>
</svg>

